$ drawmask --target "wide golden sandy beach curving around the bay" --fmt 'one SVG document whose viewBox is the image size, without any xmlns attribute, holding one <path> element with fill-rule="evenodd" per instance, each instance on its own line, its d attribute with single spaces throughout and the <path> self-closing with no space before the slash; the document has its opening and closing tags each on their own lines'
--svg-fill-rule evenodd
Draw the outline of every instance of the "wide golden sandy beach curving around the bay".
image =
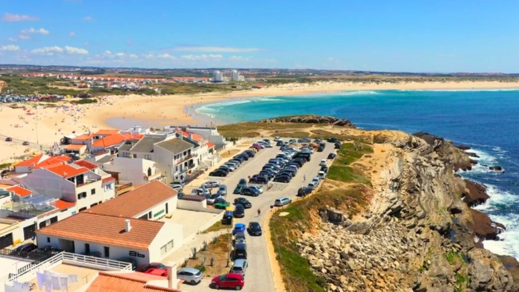
<svg viewBox="0 0 519 292">
<path fill-rule="evenodd" d="M 163 96 L 106 96 L 98 103 L 72 105 L 67 102 L 53 104 L 54 108 L 35 108 L 34 103 L 25 109 L 12 109 L 0 105 L 0 117 L 4 126 L 0 130 L 0 161 L 11 162 L 13 157 L 36 153 L 38 149 L 22 147 L 20 141 L 38 142 L 50 146 L 73 131 L 95 132 L 114 125 L 162 126 L 162 125 L 211 125 L 208 116 L 192 115 L 201 104 L 229 99 L 260 96 L 325 94 L 343 90 L 384 89 L 519 89 L 519 83 L 505 82 L 407 82 L 407 83 L 350 83 L 318 82 L 313 84 L 284 84 L 230 93 Z M 23 104 L 17 104 L 23 106 Z M 28 111 L 30 111 L 28 113 Z M 6 137 L 15 139 L 5 142 Z M 16 160 L 16 159 L 15 159 Z"/>
</svg>

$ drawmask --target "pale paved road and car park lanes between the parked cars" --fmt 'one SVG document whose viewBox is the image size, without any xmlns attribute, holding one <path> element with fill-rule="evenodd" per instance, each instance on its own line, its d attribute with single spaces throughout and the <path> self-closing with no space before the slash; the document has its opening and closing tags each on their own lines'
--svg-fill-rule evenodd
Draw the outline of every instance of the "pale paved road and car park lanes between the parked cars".
<svg viewBox="0 0 519 292">
<path fill-rule="evenodd" d="M 278 152 L 280 152 L 279 147 L 262 149 L 256 153 L 254 158 L 244 162 L 235 172 L 231 172 L 226 178 L 213 178 L 227 185 L 228 194 L 226 200 L 232 203 L 235 198 L 241 196 L 232 193 L 238 181 L 241 178 L 247 178 L 248 176 L 260 172 L 268 160 L 274 158 Z M 286 196 L 294 200 L 296 198 L 297 189 L 308 184 L 313 177 L 317 176 L 320 170 L 319 163 L 322 159 L 326 159 L 328 154 L 332 152 L 335 152 L 334 145 L 332 143 L 326 143 L 324 151 L 312 154 L 311 161 L 303 165 L 303 167 L 297 171 L 297 175 L 290 183 L 274 182 L 274 187 L 271 190 L 265 190 L 260 196 L 245 196 L 252 203 L 252 208 L 246 209 L 245 217 L 235 219 L 235 223 L 248 224 L 252 221 L 263 223 L 267 211 L 271 205 L 274 205 L 276 198 Z M 306 176 L 306 182 L 303 181 L 304 176 Z M 266 189 L 265 186 L 264 189 Z M 256 214 L 258 208 L 262 211 L 260 218 L 258 218 Z M 266 238 L 264 236 L 249 236 L 247 234 L 247 252 L 249 268 L 245 276 L 245 287 L 243 291 L 275 291 L 267 253 Z M 197 286 L 182 285 L 181 288 L 188 292 L 207 291 L 210 282 L 210 279 L 204 279 Z"/>
</svg>

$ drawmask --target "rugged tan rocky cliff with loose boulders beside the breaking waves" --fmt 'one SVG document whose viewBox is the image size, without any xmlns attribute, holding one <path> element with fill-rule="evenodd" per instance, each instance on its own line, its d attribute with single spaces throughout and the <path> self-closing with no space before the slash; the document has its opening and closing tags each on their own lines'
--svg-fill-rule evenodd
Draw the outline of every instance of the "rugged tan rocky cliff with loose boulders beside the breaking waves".
<svg viewBox="0 0 519 292">
<path fill-rule="evenodd" d="M 352 220 L 324 219 L 297 243 L 327 288 L 519 291 L 517 261 L 482 248 L 504 227 L 469 207 L 488 198 L 484 186 L 455 173 L 470 169 L 470 157 L 427 133 L 377 131 L 372 142 L 387 150 L 382 170 L 366 174 L 374 191 L 368 208 Z"/>
</svg>

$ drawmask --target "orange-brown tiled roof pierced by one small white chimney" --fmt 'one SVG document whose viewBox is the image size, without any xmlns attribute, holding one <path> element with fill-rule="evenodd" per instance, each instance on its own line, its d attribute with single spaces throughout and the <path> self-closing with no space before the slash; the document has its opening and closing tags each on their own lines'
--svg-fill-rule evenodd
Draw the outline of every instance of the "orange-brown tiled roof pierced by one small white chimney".
<svg viewBox="0 0 519 292">
<path fill-rule="evenodd" d="M 105 203 L 101 205 L 103 204 Z M 132 227 L 129 232 L 125 232 L 127 219 Z M 163 225 L 164 222 L 159 221 L 106 216 L 85 211 L 39 229 L 36 233 L 146 250 Z"/>
</svg>

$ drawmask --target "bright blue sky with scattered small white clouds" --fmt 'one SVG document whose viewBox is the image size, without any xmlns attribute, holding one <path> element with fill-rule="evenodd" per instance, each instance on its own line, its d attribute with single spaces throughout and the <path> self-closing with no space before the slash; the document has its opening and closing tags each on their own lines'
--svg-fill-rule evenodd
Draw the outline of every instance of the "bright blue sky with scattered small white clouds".
<svg viewBox="0 0 519 292">
<path fill-rule="evenodd" d="M 517 1 L 0 4 L 0 63 L 519 72 Z"/>
</svg>

